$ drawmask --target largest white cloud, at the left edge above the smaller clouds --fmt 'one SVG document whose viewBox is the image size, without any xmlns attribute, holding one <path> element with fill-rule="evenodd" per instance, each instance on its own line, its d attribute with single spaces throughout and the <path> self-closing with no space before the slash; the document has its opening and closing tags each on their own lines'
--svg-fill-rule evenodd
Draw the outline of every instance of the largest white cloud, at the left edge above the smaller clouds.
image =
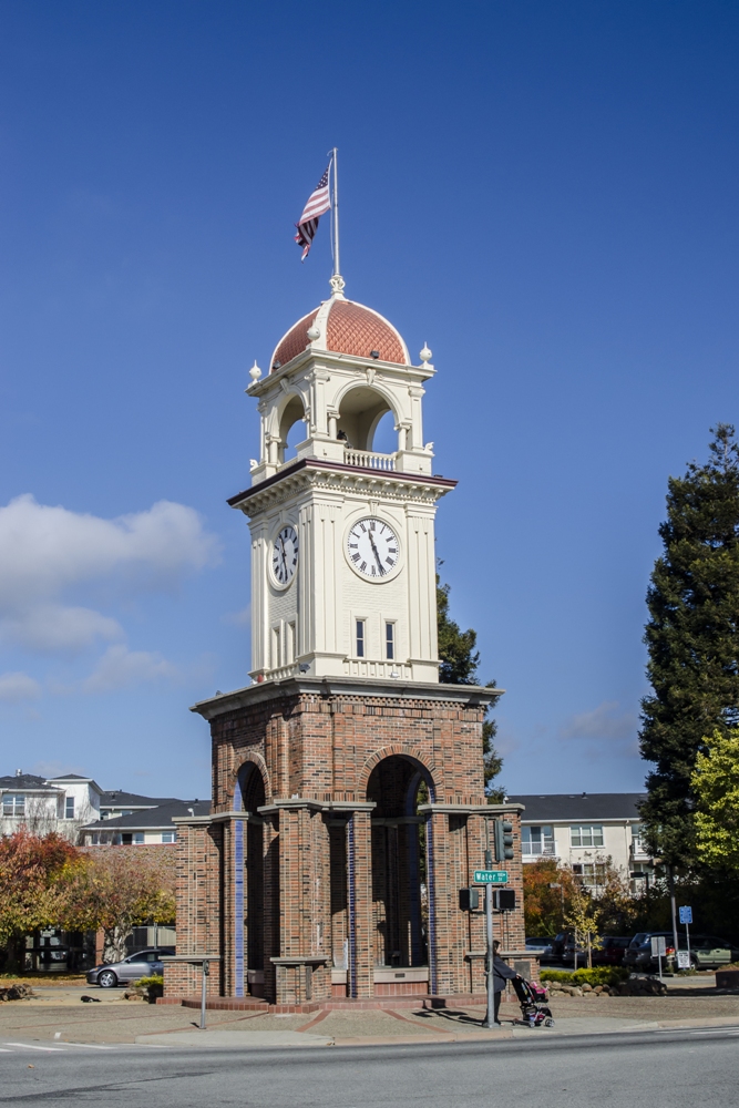
<svg viewBox="0 0 739 1108">
<path fill-rule="evenodd" d="M 18 496 L 0 507 L 0 637 L 51 654 L 121 638 L 114 618 L 65 597 L 101 586 L 127 596 L 170 591 L 216 555 L 215 537 L 183 504 L 103 520 Z"/>
</svg>

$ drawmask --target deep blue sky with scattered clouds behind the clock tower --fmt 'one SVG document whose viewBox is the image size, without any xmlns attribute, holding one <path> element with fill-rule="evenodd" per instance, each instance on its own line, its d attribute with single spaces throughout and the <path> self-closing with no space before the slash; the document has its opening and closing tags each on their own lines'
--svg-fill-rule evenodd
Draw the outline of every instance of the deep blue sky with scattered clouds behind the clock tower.
<svg viewBox="0 0 739 1108">
<path fill-rule="evenodd" d="M 243 390 L 327 295 L 337 145 L 347 294 L 433 350 L 502 782 L 640 788 L 667 476 L 737 419 L 738 48 L 710 0 L 0 0 L 0 772 L 208 794 Z"/>
</svg>

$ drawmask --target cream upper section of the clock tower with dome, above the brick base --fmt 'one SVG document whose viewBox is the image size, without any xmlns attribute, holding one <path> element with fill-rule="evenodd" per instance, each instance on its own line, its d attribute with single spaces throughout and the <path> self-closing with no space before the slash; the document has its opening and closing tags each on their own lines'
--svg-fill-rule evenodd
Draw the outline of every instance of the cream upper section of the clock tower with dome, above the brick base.
<svg viewBox="0 0 739 1108">
<path fill-rule="evenodd" d="M 437 503 L 423 442 L 431 351 L 413 366 L 396 328 L 341 291 L 285 335 L 247 393 L 261 417 L 252 488 L 253 679 L 437 681 Z M 373 449 L 390 413 L 398 449 Z M 305 428 L 295 455 L 288 434 Z"/>
</svg>

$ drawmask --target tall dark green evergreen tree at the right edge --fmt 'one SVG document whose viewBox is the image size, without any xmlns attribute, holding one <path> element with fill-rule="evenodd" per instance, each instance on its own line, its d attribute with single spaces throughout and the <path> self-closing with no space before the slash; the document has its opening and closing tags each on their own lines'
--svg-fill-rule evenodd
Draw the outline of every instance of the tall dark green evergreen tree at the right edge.
<svg viewBox="0 0 739 1108">
<path fill-rule="evenodd" d="M 681 868 L 696 860 L 698 755 L 739 724 L 739 447 L 729 424 L 711 433 L 708 462 L 669 480 L 647 593 L 653 694 L 642 701 L 640 747 L 655 769 L 642 812 L 651 850 Z"/>
</svg>

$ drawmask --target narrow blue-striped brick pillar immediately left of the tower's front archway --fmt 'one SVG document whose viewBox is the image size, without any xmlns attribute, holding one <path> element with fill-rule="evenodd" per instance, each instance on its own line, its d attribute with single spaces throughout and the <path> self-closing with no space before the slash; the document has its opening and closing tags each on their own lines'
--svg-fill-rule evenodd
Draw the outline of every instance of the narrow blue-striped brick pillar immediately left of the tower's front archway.
<svg viewBox="0 0 739 1108">
<path fill-rule="evenodd" d="M 349 902 L 349 996 L 374 993 L 372 934 L 372 833 L 370 813 L 352 812 L 347 823 Z"/>
</svg>

